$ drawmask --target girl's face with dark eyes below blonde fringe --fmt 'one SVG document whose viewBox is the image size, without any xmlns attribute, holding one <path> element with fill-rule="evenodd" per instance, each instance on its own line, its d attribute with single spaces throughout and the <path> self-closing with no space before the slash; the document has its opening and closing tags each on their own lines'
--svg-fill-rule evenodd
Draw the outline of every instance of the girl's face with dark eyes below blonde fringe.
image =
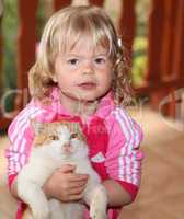
<svg viewBox="0 0 184 219">
<path fill-rule="evenodd" d="M 55 78 L 60 89 L 61 103 L 92 102 L 110 91 L 113 79 L 108 49 L 94 48 L 91 38 L 81 38 L 77 45 L 58 54 L 55 61 Z"/>
</svg>

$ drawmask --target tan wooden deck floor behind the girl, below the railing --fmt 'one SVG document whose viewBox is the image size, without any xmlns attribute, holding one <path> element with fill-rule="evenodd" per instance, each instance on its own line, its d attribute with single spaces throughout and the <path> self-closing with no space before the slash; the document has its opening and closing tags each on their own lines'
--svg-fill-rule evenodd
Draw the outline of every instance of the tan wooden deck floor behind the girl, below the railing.
<svg viewBox="0 0 184 219">
<path fill-rule="evenodd" d="M 182 219 L 184 215 L 184 130 L 172 120 L 143 110 L 134 115 L 142 125 L 142 181 L 134 204 L 124 207 L 119 219 Z M 0 141 L 0 219 L 13 219 L 15 200 L 5 186 L 5 159 Z"/>
</svg>

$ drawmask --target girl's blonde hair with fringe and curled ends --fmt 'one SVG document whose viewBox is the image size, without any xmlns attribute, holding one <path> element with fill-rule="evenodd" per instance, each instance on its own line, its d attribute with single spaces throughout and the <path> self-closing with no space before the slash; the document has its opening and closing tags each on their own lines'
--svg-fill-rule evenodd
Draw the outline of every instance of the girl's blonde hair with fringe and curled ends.
<svg viewBox="0 0 184 219">
<path fill-rule="evenodd" d="M 30 92 L 33 97 L 48 97 L 57 84 L 55 58 L 58 53 L 72 48 L 81 36 L 92 37 L 94 46 L 108 47 L 110 58 L 114 65 L 112 90 L 115 103 L 124 105 L 130 100 L 131 89 L 127 79 L 127 64 L 123 45 L 119 44 L 115 27 L 103 9 L 90 5 L 68 7 L 57 11 L 47 22 L 37 59 L 28 73 Z"/>
</svg>

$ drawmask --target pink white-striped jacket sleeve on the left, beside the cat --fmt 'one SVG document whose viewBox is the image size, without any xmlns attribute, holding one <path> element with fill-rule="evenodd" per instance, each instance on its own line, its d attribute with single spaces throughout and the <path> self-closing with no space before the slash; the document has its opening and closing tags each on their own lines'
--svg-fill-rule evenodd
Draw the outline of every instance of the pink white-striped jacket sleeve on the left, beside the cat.
<svg viewBox="0 0 184 219">
<path fill-rule="evenodd" d="M 8 137 L 10 146 L 5 151 L 5 157 L 8 159 L 9 186 L 11 186 L 19 171 L 26 163 L 34 138 L 30 118 L 35 117 L 37 114 L 37 108 L 26 106 L 9 126 Z"/>
</svg>

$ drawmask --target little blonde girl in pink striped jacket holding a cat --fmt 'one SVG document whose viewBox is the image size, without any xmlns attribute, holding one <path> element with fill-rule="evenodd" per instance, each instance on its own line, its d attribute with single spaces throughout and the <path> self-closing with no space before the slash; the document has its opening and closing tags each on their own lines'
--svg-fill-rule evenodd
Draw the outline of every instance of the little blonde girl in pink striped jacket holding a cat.
<svg viewBox="0 0 184 219">
<path fill-rule="evenodd" d="M 36 118 L 78 120 L 110 209 L 135 199 L 142 131 L 124 108 L 130 88 L 123 51 L 111 19 L 100 8 L 68 7 L 49 19 L 28 74 L 32 100 L 9 127 L 9 185 L 15 197 L 16 175 L 28 160 L 34 139 L 30 118 Z M 48 198 L 80 200 L 87 181 L 88 175 L 68 164 L 55 171 L 43 189 Z M 22 210 L 20 200 L 16 218 Z M 108 218 L 117 218 L 117 211 L 110 210 Z"/>
</svg>

